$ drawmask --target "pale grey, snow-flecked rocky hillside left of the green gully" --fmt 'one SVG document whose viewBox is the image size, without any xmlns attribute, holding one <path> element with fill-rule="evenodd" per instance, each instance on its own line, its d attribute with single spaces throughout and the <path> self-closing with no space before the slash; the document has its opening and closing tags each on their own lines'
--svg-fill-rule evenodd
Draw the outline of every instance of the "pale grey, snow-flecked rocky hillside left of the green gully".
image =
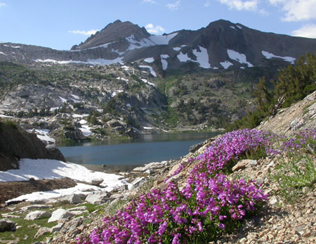
<svg viewBox="0 0 316 244">
<path fill-rule="evenodd" d="M 155 131 L 154 115 L 166 105 L 150 74 L 137 67 L 3 63 L 1 70 L 1 114 L 25 129 L 49 130 L 58 142 Z"/>
</svg>

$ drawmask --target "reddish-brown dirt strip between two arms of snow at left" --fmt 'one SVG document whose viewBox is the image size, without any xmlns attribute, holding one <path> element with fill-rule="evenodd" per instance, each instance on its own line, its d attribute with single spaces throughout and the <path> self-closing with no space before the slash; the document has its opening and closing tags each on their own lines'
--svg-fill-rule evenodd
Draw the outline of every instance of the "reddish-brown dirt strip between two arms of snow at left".
<svg viewBox="0 0 316 244">
<path fill-rule="evenodd" d="M 39 179 L 24 182 L 0 182 L 0 206 L 12 198 L 17 198 L 34 191 L 52 191 L 74 187 L 76 182 L 70 178 Z"/>
</svg>

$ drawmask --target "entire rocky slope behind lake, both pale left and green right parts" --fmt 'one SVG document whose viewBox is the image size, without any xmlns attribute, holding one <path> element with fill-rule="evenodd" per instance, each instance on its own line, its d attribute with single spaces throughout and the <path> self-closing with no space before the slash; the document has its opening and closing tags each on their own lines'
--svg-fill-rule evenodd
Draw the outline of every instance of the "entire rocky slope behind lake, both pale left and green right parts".
<svg viewBox="0 0 316 244">
<path fill-rule="evenodd" d="M 277 67 L 162 79 L 137 65 L 0 62 L 0 72 L 0 116 L 53 143 L 222 128 L 254 107 L 254 85 Z"/>
</svg>

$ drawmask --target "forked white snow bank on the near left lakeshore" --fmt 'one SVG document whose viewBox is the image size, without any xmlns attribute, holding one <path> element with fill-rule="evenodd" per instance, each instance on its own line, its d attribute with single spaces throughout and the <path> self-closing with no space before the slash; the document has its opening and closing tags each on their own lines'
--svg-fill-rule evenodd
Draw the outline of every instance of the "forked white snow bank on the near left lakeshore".
<svg viewBox="0 0 316 244">
<path fill-rule="evenodd" d="M 112 191 L 121 185 L 131 184 L 127 183 L 121 178 L 121 175 L 107 174 L 104 172 L 95 172 L 88 170 L 84 166 L 75 163 L 64 163 L 51 159 L 22 159 L 20 160 L 20 169 L 0 171 L 0 182 L 12 182 L 34 179 L 59 179 L 69 177 L 81 182 L 90 182 L 91 179 L 103 179 L 100 187 L 103 191 Z M 49 198 L 57 198 L 60 196 L 70 194 L 86 194 L 87 190 L 98 191 L 101 188 L 89 184 L 77 183 L 76 187 L 67 189 L 58 189 L 53 191 L 37 191 L 32 194 L 19 196 L 18 198 L 11 199 L 10 201 L 35 201 L 44 200 Z"/>
</svg>

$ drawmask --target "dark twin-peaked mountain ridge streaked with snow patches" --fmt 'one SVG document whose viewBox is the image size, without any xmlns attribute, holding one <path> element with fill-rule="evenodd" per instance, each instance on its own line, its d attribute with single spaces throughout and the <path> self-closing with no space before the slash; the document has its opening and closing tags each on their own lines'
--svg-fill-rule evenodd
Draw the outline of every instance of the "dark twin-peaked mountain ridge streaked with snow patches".
<svg viewBox="0 0 316 244">
<path fill-rule="evenodd" d="M 152 35 L 131 22 L 117 20 L 71 50 L 0 43 L 0 61 L 110 65 L 139 62 L 158 74 L 172 69 L 244 69 L 286 65 L 315 53 L 316 39 L 260 32 L 227 20 L 196 31 Z M 152 73 L 153 74 L 153 73 Z"/>
</svg>

